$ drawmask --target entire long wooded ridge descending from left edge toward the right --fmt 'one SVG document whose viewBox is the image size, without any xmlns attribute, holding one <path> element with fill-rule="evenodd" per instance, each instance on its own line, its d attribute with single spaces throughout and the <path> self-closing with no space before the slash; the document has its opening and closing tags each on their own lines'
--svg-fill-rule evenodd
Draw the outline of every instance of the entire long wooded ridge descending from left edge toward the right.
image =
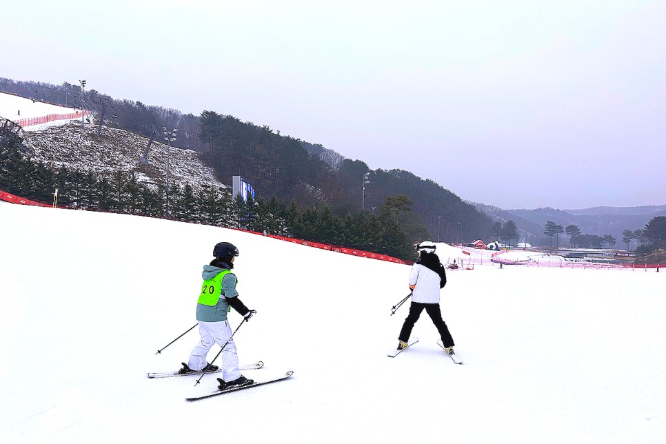
<svg viewBox="0 0 666 444">
<path fill-rule="evenodd" d="M 399 169 L 370 170 L 363 161 L 344 159 L 321 144 L 285 137 L 230 115 L 183 114 L 140 101 L 112 99 L 94 89 L 82 91 L 70 83 L 0 79 L 0 90 L 72 108 L 80 108 L 83 97 L 85 109 L 95 110 L 104 125 L 146 137 L 153 134 L 159 139 L 161 128 L 176 128 L 178 137 L 172 145 L 200 151 L 221 183 L 231 185 L 231 176 L 243 176 L 265 201 L 295 203 L 301 212 L 329 207 L 340 220 L 361 210 L 370 216 L 392 212 L 409 242 L 426 237 L 471 241 L 487 237 L 490 228 L 485 214 L 434 181 Z"/>
</svg>

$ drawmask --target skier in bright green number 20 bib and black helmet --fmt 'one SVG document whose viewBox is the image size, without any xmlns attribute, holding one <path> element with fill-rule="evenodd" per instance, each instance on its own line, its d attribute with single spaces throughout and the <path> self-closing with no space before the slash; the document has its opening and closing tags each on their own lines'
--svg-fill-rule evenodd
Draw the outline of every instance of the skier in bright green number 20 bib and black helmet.
<svg viewBox="0 0 666 444">
<path fill-rule="evenodd" d="M 232 338 L 232 331 L 227 319 L 227 313 L 231 308 L 239 312 L 250 321 L 254 310 L 241 302 L 236 291 L 236 275 L 231 272 L 234 268 L 234 259 L 238 256 L 238 248 L 229 242 L 220 242 L 213 249 L 214 259 L 209 265 L 203 266 L 203 283 L 201 294 L 196 304 L 196 321 L 199 323 L 199 334 L 201 341 L 194 347 L 187 364 L 178 372 L 187 374 L 190 372 L 214 372 L 219 370 L 217 365 L 206 362 L 206 356 L 210 347 L 217 343 L 222 350 L 222 379 L 223 387 L 228 388 L 238 385 L 252 384 L 252 379 L 247 379 L 239 371 L 238 354 L 236 344 Z M 225 345 L 226 344 L 226 345 Z"/>
</svg>

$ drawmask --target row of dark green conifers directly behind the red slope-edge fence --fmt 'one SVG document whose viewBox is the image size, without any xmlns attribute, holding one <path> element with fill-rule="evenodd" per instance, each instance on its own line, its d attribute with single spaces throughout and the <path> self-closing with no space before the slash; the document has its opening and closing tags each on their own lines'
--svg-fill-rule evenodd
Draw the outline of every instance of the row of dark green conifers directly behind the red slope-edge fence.
<svg viewBox="0 0 666 444">
<path fill-rule="evenodd" d="M 367 212 L 336 216 L 330 205 L 299 210 L 295 201 L 232 196 L 228 188 L 195 192 L 189 183 L 149 186 L 133 173 L 116 172 L 98 179 L 92 171 L 66 167 L 52 170 L 20 151 L 16 139 L 0 145 L 0 189 L 26 199 L 51 202 L 57 188 L 59 205 L 88 210 L 168 217 L 225 228 L 243 228 L 314 242 L 344 245 L 405 260 L 414 259 L 410 235 L 403 230 L 414 219 L 409 196 L 390 196 L 377 214 Z"/>
</svg>

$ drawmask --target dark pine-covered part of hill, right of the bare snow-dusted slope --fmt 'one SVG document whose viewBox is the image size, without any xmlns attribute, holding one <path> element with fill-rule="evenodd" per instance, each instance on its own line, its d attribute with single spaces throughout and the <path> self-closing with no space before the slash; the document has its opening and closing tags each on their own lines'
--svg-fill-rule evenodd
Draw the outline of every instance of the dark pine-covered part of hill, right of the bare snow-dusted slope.
<svg viewBox="0 0 666 444">
<path fill-rule="evenodd" d="M 299 205 L 325 203 L 341 217 L 361 209 L 372 212 L 384 205 L 387 197 L 405 194 L 418 217 L 403 222 L 414 226 L 415 239 L 429 236 L 457 241 L 458 237 L 487 234 L 490 219 L 485 214 L 434 181 L 411 172 L 370 170 L 363 161 L 352 159 L 343 159 L 333 168 L 307 152 L 298 139 L 216 112 L 202 113 L 201 135 L 208 141 L 203 158 L 220 177 L 242 175 L 262 194 L 294 199 Z M 396 208 L 400 210 L 403 208 Z M 419 231 L 416 225 L 423 225 L 426 231 Z"/>
</svg>

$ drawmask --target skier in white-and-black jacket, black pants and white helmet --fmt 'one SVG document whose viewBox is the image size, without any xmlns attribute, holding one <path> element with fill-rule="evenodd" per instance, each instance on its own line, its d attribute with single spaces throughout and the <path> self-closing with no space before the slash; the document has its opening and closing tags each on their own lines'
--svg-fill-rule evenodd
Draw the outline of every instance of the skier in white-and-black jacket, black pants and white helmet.
<svg viewBox="0 0 666 444">
<path fill-rule="evenodd" d="M 446 272 L 444 265 L 441 264 L 439 257 L 435 254 L 435 250 L 436 245 L 430 241 L 424 241 L 416 245 L 419 259 L 414 263 L 412 272 L 410 272 L 412 305 L 410 305 L 410 314 L 407 315 L 398 336 L 398 341 L 400 341 L 398 350 L 407 347 L 414 323 L 425 309 L 425 312 L 432 319 L 432 323 L 437 327 L 446 352 L 453 354 L 455 344 L 449 328 L 442 319 L 442 312 L 439 307 L 439 292 L 446 285 Z"/>
</svg>

